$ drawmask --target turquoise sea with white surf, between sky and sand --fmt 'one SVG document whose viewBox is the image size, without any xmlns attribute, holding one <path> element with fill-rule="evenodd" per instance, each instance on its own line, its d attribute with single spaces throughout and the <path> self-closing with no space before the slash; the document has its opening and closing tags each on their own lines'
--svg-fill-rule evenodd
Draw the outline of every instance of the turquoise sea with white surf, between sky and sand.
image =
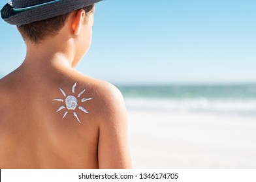
<svg viewBox="0 0 256 182">
<path fill-rule="evenodd" d="M 118 86 L 127 109 L 256 115 L 256 84 Z"/>
</svg>

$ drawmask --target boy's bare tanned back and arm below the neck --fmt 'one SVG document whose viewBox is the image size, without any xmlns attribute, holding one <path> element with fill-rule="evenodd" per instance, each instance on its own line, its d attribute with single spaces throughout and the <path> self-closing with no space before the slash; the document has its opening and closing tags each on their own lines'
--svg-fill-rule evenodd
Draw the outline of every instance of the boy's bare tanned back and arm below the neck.
<svg viewBox="0 0 256 182">
<path fill-rule="evenodd" d="M 78 99 L 76 109 L 67 109 L 67 96 Z M 83 98 L 93 99 L 82 102 Z M 121 142 L 127 140 L 127 123 L 114 86 L 71 68 L 21 66 L 1 79 L 0 99 L 0 168 L 130 167 L 121 162 L 129 161 L 127 153 L 120 153 L 128 151 Z M 56 112 L 61 106 L 65 108 Z"/>
</svg>

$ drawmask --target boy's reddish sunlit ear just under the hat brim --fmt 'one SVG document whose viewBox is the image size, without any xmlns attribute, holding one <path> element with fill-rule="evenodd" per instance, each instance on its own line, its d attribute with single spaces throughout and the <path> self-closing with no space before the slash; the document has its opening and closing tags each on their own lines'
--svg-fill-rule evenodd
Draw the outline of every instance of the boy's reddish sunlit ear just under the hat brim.
<svg viewBox="0 0 256 182">
<path fill-rule="evenodd" d="M 80 9 L 75 12 L 74 18 L 72 21 L 72 31 L 74 32 L 74 35 L 77 36 L 78 34 L 80 34 L 85 16 L 86 16 L 86 12 L 84 11 L 84 9 Z"/>
</svg>

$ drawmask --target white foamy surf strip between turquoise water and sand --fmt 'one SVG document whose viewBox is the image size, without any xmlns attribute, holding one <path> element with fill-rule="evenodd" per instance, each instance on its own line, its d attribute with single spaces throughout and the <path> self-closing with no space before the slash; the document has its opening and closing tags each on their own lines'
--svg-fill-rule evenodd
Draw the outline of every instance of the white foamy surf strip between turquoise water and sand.
<svg viewBox="0 0 256 182">
<path fill-rule="evenodd" d="M 256 99 L 125 98 L 127 109 L 255 113 Z"/>
</svg>

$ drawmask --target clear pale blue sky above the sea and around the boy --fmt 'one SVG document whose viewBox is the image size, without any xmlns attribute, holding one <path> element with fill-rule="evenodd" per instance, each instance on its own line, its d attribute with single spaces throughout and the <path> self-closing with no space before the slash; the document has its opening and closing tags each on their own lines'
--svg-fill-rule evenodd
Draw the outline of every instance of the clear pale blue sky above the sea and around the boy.
<svg viewBox="0 0 256 182">
<path fill-rule="evenodd" d="M 1 0 L 2 7 L 7 0 Z M 76 68 L 117 84 L 256 83 L 255 0 L 106 0 L 93 43 Z M 0 75 L 17 68 L 25 45 L 0 21 Z"/>
</svg>

